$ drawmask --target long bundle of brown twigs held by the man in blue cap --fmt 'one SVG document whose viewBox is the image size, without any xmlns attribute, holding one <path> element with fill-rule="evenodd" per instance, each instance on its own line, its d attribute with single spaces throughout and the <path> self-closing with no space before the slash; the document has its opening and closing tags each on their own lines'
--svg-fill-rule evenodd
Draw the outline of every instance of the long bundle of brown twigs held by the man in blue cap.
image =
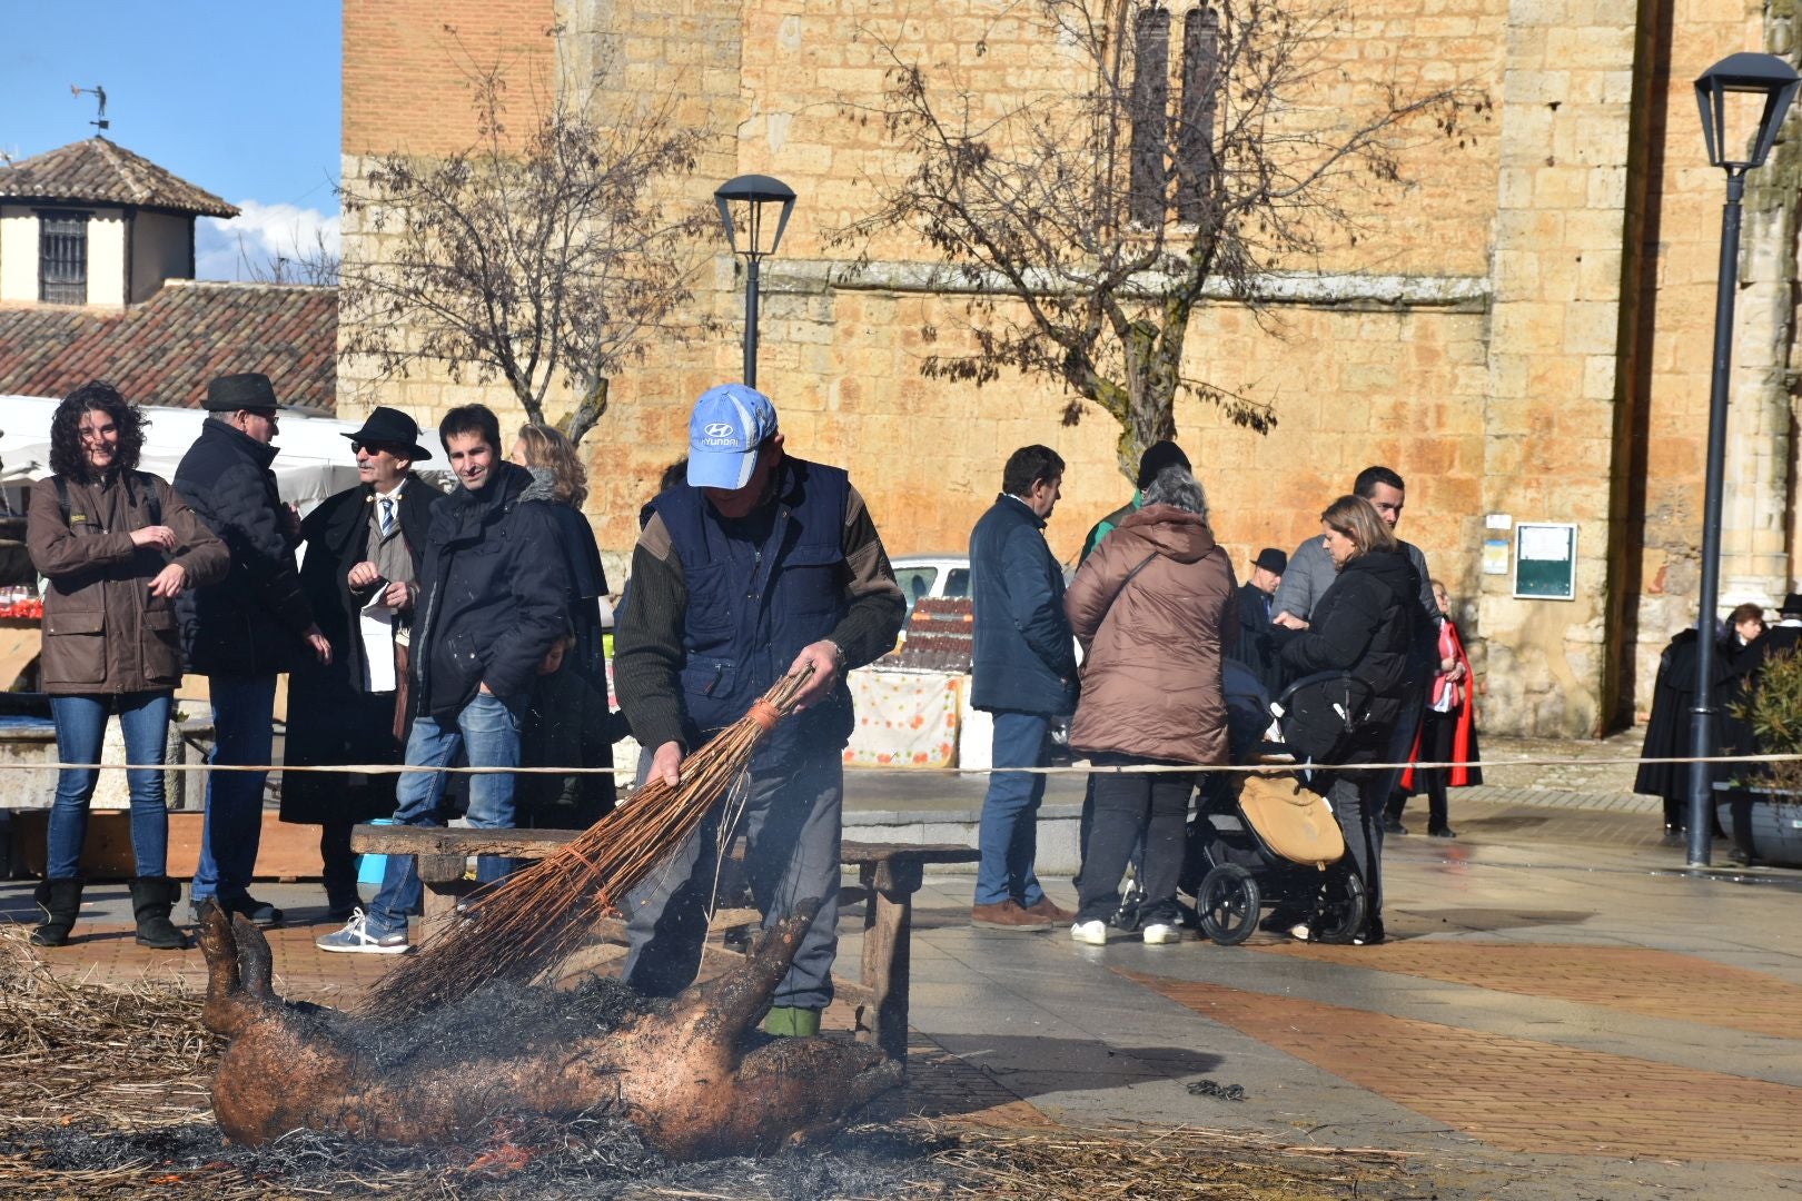
<svg viewBox="0 0 1802 1201">
<path fill-rule="evenodd" d="M 490 980 L 526 983 L 575 953 L 595 922 L 674 855 L 737 785 L 757 744 L 793 713 L 813 677 L 777 681 L 751 709 L 683 760 L 681 783 L 647 780 L 573 843 L 470 897 L 456 920 L 377 983 L 362 1012 L 398 1019 Z"/>
</svg>

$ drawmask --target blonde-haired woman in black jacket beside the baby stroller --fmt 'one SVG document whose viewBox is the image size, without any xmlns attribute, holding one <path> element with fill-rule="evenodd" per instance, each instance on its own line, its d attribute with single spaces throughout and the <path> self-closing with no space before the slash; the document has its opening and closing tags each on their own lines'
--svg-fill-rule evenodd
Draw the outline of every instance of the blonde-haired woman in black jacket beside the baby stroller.
<svg viewBox="0 0 1802 1201">
<path fill-rule="evenodd" d="M 1315 603 L 1306 630 L 1283 645 L 1283 663 L 1292 675 L 1348 672 L 1371 690 L 1370 709 L 1350 745 L 1339 753 L 1342 767 L 1315 774 L 1315 783 L 1333 807 L 1353 870 L 1364 882 L 1368 911 L 1357 944 L 1382 942 L 1382 810 L 1389 772 L 1359 771 L 1357 763 L 1380 763 L 1395 726 L 1402 718 L 1409 686 L 1409 654 L 1420 621 L 1420 573 L 1362 497 L 1344 495 L 1321 513 L 1321 537 L 1339 569 L 1326 594 Z M 1296 927 L 1299 938 L 1308 931 Z"/>
</svg>

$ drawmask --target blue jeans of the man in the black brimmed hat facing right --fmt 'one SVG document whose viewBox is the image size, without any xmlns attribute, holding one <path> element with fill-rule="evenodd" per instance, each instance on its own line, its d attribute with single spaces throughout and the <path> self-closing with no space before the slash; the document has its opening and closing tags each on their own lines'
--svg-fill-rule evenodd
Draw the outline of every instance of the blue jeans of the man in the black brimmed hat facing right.
<svg viewBox="0 0 1802 1201">
<path fill-rule="evenodd" d="M 276 747 L 276 677 L 214 675 L 211 763 L 267 763 Z M 200 834 L 200 868 L 189 897 L 222 902 L 250 895 L 256 850 L 263 841 L 267 771 L 207 772 L 207 819 Z"/>
</svg>

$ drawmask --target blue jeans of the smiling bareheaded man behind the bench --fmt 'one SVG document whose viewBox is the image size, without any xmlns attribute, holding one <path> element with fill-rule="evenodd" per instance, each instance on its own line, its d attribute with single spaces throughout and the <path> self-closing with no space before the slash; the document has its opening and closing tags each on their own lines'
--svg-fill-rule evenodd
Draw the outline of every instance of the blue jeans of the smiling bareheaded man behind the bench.
<svg viewBox="0 0 1802 1201">
<path fill-rule="evenodd" d="M 510 706 L 499 697 L 478 691 L 456 715 L 454 724 L 434 717 L 413 718 L 407 738 L 407 767 L 449 767 L 461 749 L 470 767 L 519 767 L 519 715 L 524 702 Z M 440 801 L 443 772 L 409 772 L 395 790 L 395 823 L 402 826 L 441 826 Z M 469 778 L 469 825 L 478 830 L 514 826 L 514 774 L 474 774 Z M 501 879 L 517 861 L 483 855 L 476 861 L 476 879 L 483 884 Z M 369 902 L 368 931 L 377 938 L 407 933 L 407 915 L 420 908 L 423 888 L 420 864 L 413 855 L 389 855 L 382 891 Z"/>
</svg>

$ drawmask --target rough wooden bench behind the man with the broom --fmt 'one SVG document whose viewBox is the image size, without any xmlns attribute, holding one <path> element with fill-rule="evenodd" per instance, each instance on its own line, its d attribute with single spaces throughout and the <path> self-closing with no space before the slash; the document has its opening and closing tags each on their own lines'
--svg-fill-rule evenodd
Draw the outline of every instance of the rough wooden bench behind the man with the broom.
<svg viewBox="0 0 1802 1201">
<path fill-rule="evenodd" d="M 351 850 L 377 855 L 416 855 L 425 886 L 422 942 L 476 888 L 463 877 L 470 855 L 542 859 L 580 830 L 463 830 L 449 826 L 357 826 Z M 856 981 L 834 980 L 838 996 L 856 1007 L 856 1034 L 892 1059 L 906 1057 L 908 976 L 912 967 L 914 893 L 928 864 L 975 862 L 969 846 L 948 843 L 843 843 L 840 862 L 858 870 L 858 884 L 842 888 L 842 908 L 863 904 L 863 965 Z M 757 926 L 755 909 L 721 909 L 710 933 Z M 622 940 L 623 922 L 602 922 L 605 938 Z M 717 951 L 712 949 L 712 951 Z M 730 951 L 728 951 L 730 953 Z"/>
</svg>

